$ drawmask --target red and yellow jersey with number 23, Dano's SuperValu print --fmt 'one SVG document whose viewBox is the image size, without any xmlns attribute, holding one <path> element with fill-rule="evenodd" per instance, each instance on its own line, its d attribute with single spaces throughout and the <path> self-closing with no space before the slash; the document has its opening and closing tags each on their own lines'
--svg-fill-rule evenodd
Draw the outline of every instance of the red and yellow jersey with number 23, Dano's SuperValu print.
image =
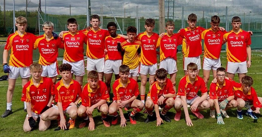
<svg viewBox="0 0 262 137">
<path fill-rule="evenodd" d="M 84 43 L 87 44 L 87 37 L 83 33 L 72 35 L 69 32 L 63 34 L 65 47 L 64 59 L 69 62 L 77 62 L 84 59 Z"/>
</svg>

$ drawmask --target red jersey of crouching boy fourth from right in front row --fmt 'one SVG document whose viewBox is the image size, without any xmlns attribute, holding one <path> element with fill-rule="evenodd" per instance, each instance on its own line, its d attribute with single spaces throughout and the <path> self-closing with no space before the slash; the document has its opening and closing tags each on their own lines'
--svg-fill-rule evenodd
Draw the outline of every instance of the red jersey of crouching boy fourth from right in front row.
<svg viewBox="0 0 262 137">
<path fill-rule="evenodd" d="M 154 102 L 154 104 L 157 104 L 157 101 L 159 97 L 161 97 L 163 94 L 175 94 L 175 90 L 173 87 L 173 83 L 170 79 L 166 78 L 166 83 L 163 87 L 163 89 L 159 86 L 157 81 L 155 81 L 150 88 L 150 91 L 148 92 L 147 96 L 151 98 L 151 100 Z M 175 99 L 175 97 L 174 97 Z"/>
</svg>

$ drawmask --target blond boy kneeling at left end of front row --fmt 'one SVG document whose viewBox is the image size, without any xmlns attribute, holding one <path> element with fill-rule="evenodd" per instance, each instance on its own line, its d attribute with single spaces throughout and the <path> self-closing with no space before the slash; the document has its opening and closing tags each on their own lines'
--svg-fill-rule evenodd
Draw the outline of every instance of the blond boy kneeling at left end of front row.
<svg viewBox="0 0 262 137">
<path fill-rule="evenodd" d="M 36 126 L 36 120 L 41 114 L 50 108 L 54 97 L 54 85 L 52 79 L 41 76 L 42 65 L 34 63 L 30 65 L 32 79 L 25 84 L 23 97 L 26 98 L 27 116 L 24 121 L 23 130 L 31 131 Z M 22 100 L 23 101 L 23 100 Z M 47 130 L 50 121 L 40 119 L 39 130 Z"/>
</svg>

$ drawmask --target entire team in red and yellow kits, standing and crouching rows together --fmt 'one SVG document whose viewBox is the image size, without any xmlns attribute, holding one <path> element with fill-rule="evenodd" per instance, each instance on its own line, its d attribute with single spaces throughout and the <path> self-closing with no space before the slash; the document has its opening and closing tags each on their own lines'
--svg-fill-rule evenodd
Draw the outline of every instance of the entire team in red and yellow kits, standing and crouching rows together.
<svg viewBox="0 0 262 137">
<path fill-rule="evenodd" d="M 261 98 L 258 98 L 254 89 L 250 87 L 253 84 L 253 80 L 248 76 L 243 78 L 247 73 L 247 68 L 251 65 L 251 40 L 250 34 L 240 29 L 240 18 L 232 18 L 231 24 L 233 29 L 229 32 L 219 27 L 220 19 L 218 16 L 213 16 L 211 18 L 211 28 L 207 30 L 202 27 L 196 27 L 196 19 L 197 17 L 195 14 L 190 14 L 188 16 L 189 26 L 185 29 L 181 29 L 177 34 L 173 34 L 174 23 L 172 21 L 167 21 L 165 27 L 166 33 L 162 34 L 161 37 L 152 32 L 155 21 L 153 19 L 147 19 L 145 21 L 145 32 L 136 36 L 136 28 L 130 26 L 127 28 L 128 36 L 124 36 L 116 34 L 116 24 L 114 22 L 108 23 L 108 31 L 100 29 L 99 17 L 93 15 L 90 21 L 92 25 L 91 29 L 78 31 L 77 21 L 71 18 L 67 20 L 69 31 L 62 32 L 62 38 L 56 38 L 52 33 L 52 22 L 45 22 L 43 24 L 45 34 L 36 37 L 35 35 L 25 32 L 27 20 L 24 17 L 18 17 L 16 19 L 18 30 L 14 34 L 9 35 L 3 52 L 3 69 L 5 73 L 9 73 L 9 81 L 7 90 L 7 110 L 2 117 L 12 114 L 12 95 L 16 79 L 20 74 L 23 86 L 22 101 L 25 102 L 25 108 L 26 106 L 30 108 L 27 109 L 28 120 L 25 120 L 24 130 L 30 131 L 32 127 L 34 127 L 35 119 L 51 106 L 53 100 L 53 96 L 39 95 L 44 93 L 48 93 L 49 95 L 54 94 L 51 90 L 52 87 L 49 91 L 46 86 L 49 85 L 50 87 L 56 83 L 56 77 L 59 73 L 57 66 L 58 48 L 65 49 L 65 52 L 63 64 L 59 67 L 62 80 L 55 85 L 54 90 L 57 105 L 43 113 L 40 120 L 41 126 L 39 125 L 39 129 L 41 130 L 46 130 L 52 119 L 60 119 L 59 123 L 62 129 L 73 128 L 75 126 L 74 119 L 77 115 L 84 118 L 80 127 L 84 127 L 89 118 L 89 130 L 94 130 L 95 125 L 91 115 L 94 108 L 101 111 L 102 120 L 105 126 L 110 126 L 106 118 L 107 113 L 113 116 L 112 124 L 117 123 L 117 110 L 120 112 L 121 126 L 125 126 L 126 120 L 123 117 L 122 108 L 133 108 L 129 117 L 131 124 L 136 124 L 134 115 L 144 108 L 147 74 L 149 74 L 150 91 L 145 105 L 148 112 L 146 122 L 152 120 L 152 110 L 154 107 L 158 108 L 158 105 L 163 108 L 163 111 L 159 114 L 158 109 L 155 109 L 157 125 L 161 124 L 162 119 L 171 121 L 165 114 L 174 104 L 175 110 L 177 111 L 175 120 L 180 120 L 180 109 L 182 106 L 185 108 L 186 104 L 191 105 L 191 111 L 198 118 L 203 118 L 203 115 L 201 115 L 199 111 L 208 109 L 209 107 L 211 109 L 210 116 L 215 117 L 216 108 L 218 123 L 220 124 L 224 123 L 220 111 L 224 116 L 228 117 L 225 109 L 238 107 L 237 114 L 238 118 L 241 119 L 243 118 L 241 109 L 245 105 L 254 104 L 254 112 L 259 113 Z M 203 59 L 204 80 L 198 76 L 201 69 L 201 39 L 204 39 L 205 42 Z M 225 77 L 224 70 L 216 71 L 221 66 L 220 50 L 225 42 L 227 42 L 227 77 Z M 85 74 L 82 54 L 84 52 L 83 43 L 87 44 L 86 55 L 89 83 L 87 83 L 81 93 L 83 75 Z M 177 72 L 176 50 L 177 46 L 181 44 L 183 44 L 182 52 L 184 57 L 183 64 L 185 77 L 180 80 L 178 93 L 175 97 L 175 78 Z M 157 70 L 156 48 L 158 47 L 160 47 L 160 68 L 164 69 Z M 33 64 L 32 68 L 29 68 L 30 64 L 32 64 L 32 50 L 36 48 L 38 48 L 40 52 L 39 64 L 41 64 L 42 67 Z M 11 50 L 9 59 L 10 66 L 7 64 L 8 50 Z M 246 54 L 248 56 L 248 61 Z M 31 58 L 28 58 L 28 56 Z M 121 64 L 123 65 L 119 67 Z M 212 87 L 214 93 L 211 92 L 210 99 L 207 101 L 208 95 L 206 84 L 211 69 L 217 82 L 215 81 L 216 84 L 213 87 L 210 86 L 210 92 Z M 42 77 L 39 76 L 40 72 Z M 218 74 L 219 72 L 223 74 Z M 118 80 L 113 84 L 114 102 L 108 108 L 105 103 L 109 101 L 108 95 L 111 91 L 110 82 L 112 73 L 115 73 L 116 79 Z M 141 101 L 136 100 L 136 97 L 139 95 L 138 85 L 136 83 L 139 73 L 141 76 Z M 170 74 L 170 80 L 166 78 L 167 73 Z M 232 81 L 235 73 L 238 73 L 239 81 L 240 83 L 242 82 L 242 84 L 235 83 L 234 85 L 231 82 L 228 84 L 229 82 L 227 82 L 227 79 Z M 30 74 L 32 75 L 31 81 L 29 81 Z M 75 75 L 76 81 L 71 79 L 73 74 Z M 102 82 L 103 74 L 105 75 L 105 83 Z M 127 74 L 129 78 L 126 76 Z M 49 78 L 44 78 L 47 76 L 52 80 L 50 81 Z M 154 82 L 155 77 L 157 80 L 156 82 Z M 225 78 L 227 79 L 225 80 Z M 221 79 L 223 79 L 222 85 Z M 53 84 L 44 82 L 45 80 Z M 43 84 L 45 85 L 40 86 Z M 232 92 L 232 87 L 234 92 L 237 92 L 235 94 L 236 100 L 233 100 L 234 96 L 232 95 L 234 95 L 234 93 Z M 201 97 L 196 95 L 199 89 L 202 92 Z M 224 95 L 223 97 L 221 96 L 222 92 Z M 49 100 L 47 97 L 50 97 L 48 98 Z M 79 106 L 77 110 L 76 104 L 81 97 L 82 105 Z M 245 101 L 249 102 L 245 104 Z M 42 104 L 41 107 L 31 108 L 31 103 L 33 102 L 46 103 L 46 105 Z M 218 102 L 220 102 L 220 107 L 217 106 Z M 214 107 L 214 105 L 217 107 Z M 190 126 L 192 122 L 188 116 L 188 111 L 187 109 L 184 109 L 184 111 L 186 123 Z M 70 116 L 68 127 L 65 122 L 64 113 L 68 113 Z M 247 114 L 256 119 L 251 108 L 247 111 Z"/>
</svg>

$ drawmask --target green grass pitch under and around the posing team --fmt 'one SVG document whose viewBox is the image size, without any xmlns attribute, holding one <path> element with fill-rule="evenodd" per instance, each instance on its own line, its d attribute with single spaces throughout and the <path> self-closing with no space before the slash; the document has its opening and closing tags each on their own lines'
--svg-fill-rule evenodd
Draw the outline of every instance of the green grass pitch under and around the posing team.
<svg viewBox="0 0 262 137">
<path fill-rule="evenodd" d="M 178 85 L 180 78 L 183 77 L 182 69 L 182 55 L 178 53 L 177 60 L 177 80 Z M 262 86 L 261 86 L 261 77 L 262 77 L 262 52 L 253 51 L 252 52 L 252 64 L 251 68 L 248 69 L 248 75 L 254 78 L 253 87 L 256 89 L 258 96 L 262 97 Z M 222 67 L 226 66 L 226 56 L 225 52 L 221 53 L 221 62 Z M 0 72 L 0 75 L 3 75 L 3 72 Z M 202 70 L 200 71 L 200 76 L 202 76 Z M 235 80 L 238 77 L 235 77 Z M 87 77 L 84 78 L 84 84 L 87 83 Z M 140 85 L 140 83 L 138 83 Z M 7 91 L 7 81 L 0 82 L 0 113 L 6 109 L 6 91 Z M 184 112 L 182 111 L 182 116 L 180 121 L 175 121 L 173 118 L 175 116 L 175 110 L 172 108 L 168 112 L 168 116 L 172 119 L 170 123 L 164 122 L 163 125 L 157 127 L 156 121 L 145 124 L 144 120 L 146 115 L 138 113 L 136 115 L 137 124 L 131 125 L 130 122 L 127 122 L 127 126 L 121 128 L 120 118 L 118 125 L 111 125 L 106 128 L 101 120 L 101 114 L 96 110 L 94 111 L 94 119 L 96 124 L 96 130 L 89 131 L 86 128 L 79 129 L 78 125 L 81 122 L 81 119 L 77 118 L 76 128 L 68 131 L 54 131 L 54 128 L 57 127 L 57 122 L 53 121 L 51 127 L 47 131 L 33 130 L 32 132 L 23 132 L 23 122 L 26 116 L 26 112 L 23 111 L 23 103 L 20 101 L 21 98 L 21 78 L 17 79 L 17 86 L 15 88 L 13 96 L 13 114 L 6 117 L 0 118 L 0 132 L 1 136 L 262 136 L 262 120 L 258 119 L 258 123 L 253 123 L 252 118 L 245 116 L 243 120 L 236 118 L 236 109 L 228 110 L 227 113 L 230 118 L 224 118 L 225 125 L 217 125 L 216 119 L 209 117 L 210 110 L 202 111 L 201 113 L 205 116 L 204 119 L 197 119 L 191 112 L 190 118 L 193 122 L 192 127 L 188 127 L 185 123 Z M 147 89 L 148 91 L 148 85 Z M 112 93 L 111 93 L 112 96 Z M 262 112 L 262 111 L 260 111 Z M 261 115 L 257 115 L 261 117 Z M 67 120 L 68 120 L 67 116 Z"/>
</svg>

